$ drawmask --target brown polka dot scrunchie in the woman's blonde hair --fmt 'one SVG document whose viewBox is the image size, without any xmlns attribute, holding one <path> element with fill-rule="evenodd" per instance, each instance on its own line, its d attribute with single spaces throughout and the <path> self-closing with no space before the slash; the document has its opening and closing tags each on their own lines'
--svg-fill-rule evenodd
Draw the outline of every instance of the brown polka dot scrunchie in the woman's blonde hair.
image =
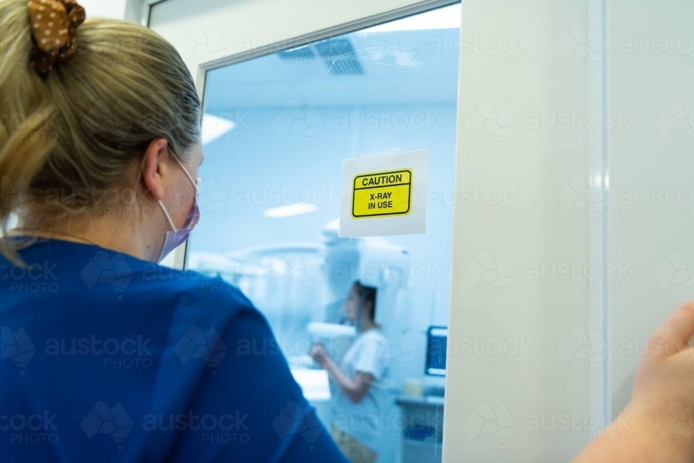
<svg viewBox="0 0 694 463">
<path fill-rule="evenodd" d="M 75 0 L 29 0 L 28 10 L 37 47 L 34 67 L 45 73 L 77 51 L 77 28 L 85 21 L 85 9 Z"/>
</svg>

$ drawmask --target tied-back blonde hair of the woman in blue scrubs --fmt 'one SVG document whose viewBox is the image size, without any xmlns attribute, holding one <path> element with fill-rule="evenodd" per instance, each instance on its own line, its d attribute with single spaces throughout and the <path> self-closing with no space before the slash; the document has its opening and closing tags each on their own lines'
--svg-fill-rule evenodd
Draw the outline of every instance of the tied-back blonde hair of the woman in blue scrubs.
<svg viewBox="0 0 694 463">
<path fill-rule="evenodd" d="M 0 253 L 15 262 L 21 244 L 7 232 L 26 201 L 90 212 L 99 201 L 78 201 L 81 191 L 123 185 L 159 137 L 185 161 L 201 131 L 189 71 L 148 28 L 87 19 L 74 56 L 45 74 L 31 34 L 26 0 L 0 0 Z M 55 192 L 60 201 L 46 201 Z"/>
</svg>

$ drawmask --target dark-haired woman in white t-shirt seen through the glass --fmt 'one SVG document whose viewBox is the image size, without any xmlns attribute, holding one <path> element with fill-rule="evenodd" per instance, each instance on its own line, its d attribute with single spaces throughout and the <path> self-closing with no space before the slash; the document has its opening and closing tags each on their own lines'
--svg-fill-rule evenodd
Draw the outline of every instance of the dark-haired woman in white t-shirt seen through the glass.
<svg viewBox="0 0 694 463">
<path fill-rule="evenodd" d="M 388 369 L 388 347 L 374 321 L 376 289 L 354 283 L 345 301 L 348 319 L 357 326 L 357 338 L 338 367 L 323 344 L 311 346 L 310 355 L 337 383 L 332 401 L 332 437 L 352 463 L 373 463 L 381 436 L 379 416 L 389 393 L 380 387 Z"/>
</svg>

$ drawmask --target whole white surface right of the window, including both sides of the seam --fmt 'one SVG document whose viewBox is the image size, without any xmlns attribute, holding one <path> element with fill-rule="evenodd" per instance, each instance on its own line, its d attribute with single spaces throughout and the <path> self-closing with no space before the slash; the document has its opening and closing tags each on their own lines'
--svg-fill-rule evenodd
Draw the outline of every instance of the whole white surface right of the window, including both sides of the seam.
<svg viewBox="0 0 694 463">
<path fill-rule="evenodd" d="M 532 202 L 457 205 L 445 461 L 569 461 L 691 299 L 693 13 L 464 2 L 457 187 Z M 525 53 L 496 46 L 521 35 Z"/>
</svg>

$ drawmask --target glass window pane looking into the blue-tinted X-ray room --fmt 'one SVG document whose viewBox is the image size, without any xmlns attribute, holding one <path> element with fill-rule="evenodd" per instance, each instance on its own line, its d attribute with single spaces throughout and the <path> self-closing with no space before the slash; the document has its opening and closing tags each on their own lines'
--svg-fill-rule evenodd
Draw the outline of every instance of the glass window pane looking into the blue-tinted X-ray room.
<svg viewBox="0 0 694 463">
<path fill-rule="evenodd" d="M 459 4 L 440 8 L 214 69 L 205 84 L 189 268 L 242 289 L 326 426 L 379 462 L 441 460 L 459 19 Z M 427 233 L 338 238 L 342 160 L 421 148 Z M 350 312 L 357 280 L 376 289 L 370 340 L 363 289 Z M 314 342 L 350 379 L 375 378 L 361 401 L 308 355 Z"/>
</svg>

